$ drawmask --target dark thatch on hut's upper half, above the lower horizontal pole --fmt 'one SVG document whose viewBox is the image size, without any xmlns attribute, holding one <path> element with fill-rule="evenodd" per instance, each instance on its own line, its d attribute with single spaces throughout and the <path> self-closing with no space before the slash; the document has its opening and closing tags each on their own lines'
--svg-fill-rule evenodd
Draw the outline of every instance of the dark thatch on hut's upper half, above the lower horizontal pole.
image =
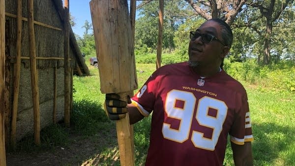
<svg viewBox="0 0 295 166">
<path fill-rule="evenodd" d="M 27 1 L 23 0 L 22 16 L 28 18 Z M 16 16 L 17 0 L 5 0 L 5 12 Z M 41 6 L 41 7 L 40 7 Z M 34 3 L 34 21 L 40 22 L 54 28 L 46 28 L 35 24 L 36 56 L 41 58 L 37 61 L 38 68 L 63 67 L 63 48 L 64 48 L 64 9 L 62 0 L 36 0 Z M 7 21 L 10 31 L 10 43 L 16 45 L 16 18 Z M 28 23 L 23 22 L 22 48 L 29 48 Z M 15 32 L 15 33 L 14 33 Z M 11 49 L 10 55 L 16 55 L 16 50 Z M 29 50 L 22 49 L 22 64 L 29 67 Z M 13 58 L 13 57 L 12 57 Z M 75 35 L 70 28 L 70 66 L 74 69 L 74 74 L 90 75 L 89 69 L 82 57 L 80 48 L 77 44 Z"/>
</svg>

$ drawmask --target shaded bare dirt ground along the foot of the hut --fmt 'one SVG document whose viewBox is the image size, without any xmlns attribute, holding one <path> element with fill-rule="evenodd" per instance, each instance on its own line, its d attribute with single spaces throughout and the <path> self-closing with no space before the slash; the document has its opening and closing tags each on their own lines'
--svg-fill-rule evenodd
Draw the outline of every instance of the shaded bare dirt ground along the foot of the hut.
<svg viewBox="0 0 295 166">
<path fill-rule="evenodd" d="M 116 149 L 115 133 L 111 137 L 71 135 L 69 146 L 57 146 L 48 151 L 6 152 L 7 166 L 98 166 L 102 149 Z"/>
</svg>

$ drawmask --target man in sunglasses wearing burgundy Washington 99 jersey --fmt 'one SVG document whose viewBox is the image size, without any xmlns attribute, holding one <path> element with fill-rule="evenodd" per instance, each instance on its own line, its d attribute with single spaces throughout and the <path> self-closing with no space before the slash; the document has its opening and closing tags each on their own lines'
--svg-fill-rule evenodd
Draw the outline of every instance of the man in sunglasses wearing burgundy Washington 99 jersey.
<svg viewBox="0 0 295 166">
<path fill-rule="evenodd" d="M 190 32 L 189 61 L 162 66 L 131 99 L 107 94 L 108 116 L 130 123 L 152 112 L 145 166 L 222 166 L 230 134 L 236 166 L 253 166 L 247 94 L 220 66 L 233 33 L 220 19 Z M 120 115 L 120 116 L 119 116 Z"/>
</svg>

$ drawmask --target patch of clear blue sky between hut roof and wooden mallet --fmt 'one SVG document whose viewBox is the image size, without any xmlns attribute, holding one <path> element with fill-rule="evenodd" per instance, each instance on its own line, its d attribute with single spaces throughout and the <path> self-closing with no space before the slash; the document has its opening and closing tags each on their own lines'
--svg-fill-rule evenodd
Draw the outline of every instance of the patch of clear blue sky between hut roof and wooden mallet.
<svg viewBox="0 0 295 166">
<path fill-rule="evenodd" d="M 69 0 L 70 13 L 74 16 L 74 22 L 76 23 L 75 27 L 72 27 L 72 30 L 81 37 L 85 32 L 85 29 L 82 28 L 85 21 L 88 20 L 89 23 L 92 23 L 89 5 L 90 1 L 91 0 Z M 130 0 L 127 0 L 127 2 L 129 4 Z"/>
</svg>

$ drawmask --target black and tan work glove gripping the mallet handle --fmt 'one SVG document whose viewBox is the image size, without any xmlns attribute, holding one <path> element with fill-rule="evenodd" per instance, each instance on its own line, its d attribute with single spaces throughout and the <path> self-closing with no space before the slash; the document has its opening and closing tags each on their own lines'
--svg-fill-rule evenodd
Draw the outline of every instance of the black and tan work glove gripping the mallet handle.
<svg viewBox="0 0 295 166">
<path fill-rule="evenodd" d="M 131 103 L 130 97 L 127 97 L 127 101 L 120 100 L 118 94 L 106 94 L 106 100 L 104 103 L 107 116 L 111 120 L 120 120 L 125 118 L 128 112 L 127 102 Z"/>
</svg>

